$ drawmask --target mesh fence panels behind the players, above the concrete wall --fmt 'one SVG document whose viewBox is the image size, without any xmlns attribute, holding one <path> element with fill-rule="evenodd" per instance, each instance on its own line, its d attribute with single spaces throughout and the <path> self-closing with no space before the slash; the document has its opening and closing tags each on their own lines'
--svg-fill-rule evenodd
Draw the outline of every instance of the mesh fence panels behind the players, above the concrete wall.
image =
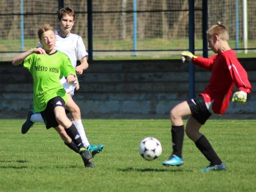
<svg viewBox="0 0 256 192">
<path fill-rule="evenodd" d="M 76 11 L 72 33 L 80 35 L 88 48 L 87 1 L 64 0 Z M 189 47 L 189 0 L 93 0 L 93 57 L 175 55 Z M 17 52 L 35 47 L 37 30 L 50 23 L 56 28 L 58 1 L 0 0 L 0 60 L 11 60 Z M 202 49 L 202 0 L 195 0 L 195 49 Z M 256 1 L 208 1 L 208 26 L 221 21 L 228 28 L 231 48 L 256 49 Z M 244 41 L 247 18 L 247 41 Z M 237 51 L 238 52 L 238 51 Z"/>
</svg>

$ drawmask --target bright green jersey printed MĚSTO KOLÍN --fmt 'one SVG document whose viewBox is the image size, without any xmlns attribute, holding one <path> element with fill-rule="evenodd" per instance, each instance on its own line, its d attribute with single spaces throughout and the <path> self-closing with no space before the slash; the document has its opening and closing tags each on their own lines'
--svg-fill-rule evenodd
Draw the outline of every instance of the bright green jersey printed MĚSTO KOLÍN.
<svg viewBox="0 0 256 192">
<path fill-rule="evenodd" d="M 44 111 L 48 101 L 62 97 L 67 102 L 67 94 L 60 78 L 75 75 L 74 67 L 66 54 L 56 51 L 51 54 L 28 55 L 21 66 L 28 69 L 33 77 L 34 111 Z"/>
</svg>

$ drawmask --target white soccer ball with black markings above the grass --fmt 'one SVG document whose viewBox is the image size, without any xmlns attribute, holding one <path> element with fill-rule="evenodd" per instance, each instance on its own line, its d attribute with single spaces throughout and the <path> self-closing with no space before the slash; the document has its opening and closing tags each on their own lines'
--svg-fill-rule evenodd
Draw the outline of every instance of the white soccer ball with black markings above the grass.
<svg viewBox="0 0 256 192">
<path fill-rule="evenodd" d="M 146 137 L 139 144 L 139 154 L 148 161 L 158 158 L 161 153 L 162 146 L 156 138 Z"/>
</svg>

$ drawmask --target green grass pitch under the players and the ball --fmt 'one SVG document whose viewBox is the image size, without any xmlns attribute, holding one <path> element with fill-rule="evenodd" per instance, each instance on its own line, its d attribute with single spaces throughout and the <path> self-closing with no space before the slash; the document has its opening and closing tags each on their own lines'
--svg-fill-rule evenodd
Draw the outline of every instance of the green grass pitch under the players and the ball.
<svg viewBox="0 0 256 192">
<path fill-rule="evenodd" d="M 256 191 L 256 120 L 209 120 L 202 133 L 227 171 L 199 173 L 208 161 L 188 137 L 182 167 L 165 167 L 171 153 L 169 120 L 83 120 L 92 144 L 104 144 L 84 168 L 53 129 L 35 124 L 25 135 L 24 120 L 0 120 L 0 191 Z M 146 161 L 138 144 L 146 136 L 160 140 L 162 155 Z"/>
</svg>

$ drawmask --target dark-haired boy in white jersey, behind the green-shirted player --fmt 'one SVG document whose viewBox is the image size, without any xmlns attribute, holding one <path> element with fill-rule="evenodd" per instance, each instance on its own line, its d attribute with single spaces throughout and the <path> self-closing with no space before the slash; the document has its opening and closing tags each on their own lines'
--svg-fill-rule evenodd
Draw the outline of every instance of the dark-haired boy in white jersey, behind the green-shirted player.
<svg viewBox="0 0 256 192">
<path fill-rule="evenodd" d="M 74 25 L 74 19 L 75 19 L 75 13 L 72 8 L 70 7 L 64 7 L 61 8 L 58 12 L 58 22 L 59 22 L 59 29 L 55 31 L 56 35 L 56 44 L 55 49 L 58 51 L 61 51 L 63 53 L 66 53 L 68 57 L 71 60 L 72 66 L 75 68 L 77 74 L 82 74 L 85 69 L 88 68 L 88 63 L 86 57 L 88 56 L 84 42 L 82 38 L 79 35 L 70 33 L 73 25 Z M 42 45 L 39 44 L 38 47 L 41 47 Z M 77 59 L 80 60 L 81 64 L 79 66 L 77 65 Z M 74 89 L 79 89 L 79 84 L 68 84 L 65 78 L 62 78 L 61 84 L 65 88 L 66 92 L 68 93 L 68 97 L 72 97 L 74 94 Z M 68 111 L 71 113 L 72 117 L 72 123 L 77 127 L 77 130 L 79 134 L 81 135 L 81 139 L 83 141 L 83 144 L 85 148 L 89 152 L 92 153 L 94 156 L 95 154 L 99 153 L 101 150 L 103 150 L 104 145 L 90 145 L 85 131 L 84 126 L 81 121 L 81 113 L 80 109 L 77 106 L 75 102 L 71 99 L 72 102 L 70 102 L 70 105 L 66 105 L 68 108 Z M 22 125 L 21 132 L 25 134 L 29 128 L 33 126 L 34 123 L 41 122 L 43 123 L 43 119 L 41 118 L 41 115 L 38 113 L 34 113 L 34 111 L 28 112 L 28 117 L 26 122 Z M 68 137 L 65 130 L 59 130 L 58 132 L 62 138 Z M 72 150 L 78 152 L 76 145 L 73 143 L 67 144 L 68 147 L 70 147 Z"/>
</svg>

